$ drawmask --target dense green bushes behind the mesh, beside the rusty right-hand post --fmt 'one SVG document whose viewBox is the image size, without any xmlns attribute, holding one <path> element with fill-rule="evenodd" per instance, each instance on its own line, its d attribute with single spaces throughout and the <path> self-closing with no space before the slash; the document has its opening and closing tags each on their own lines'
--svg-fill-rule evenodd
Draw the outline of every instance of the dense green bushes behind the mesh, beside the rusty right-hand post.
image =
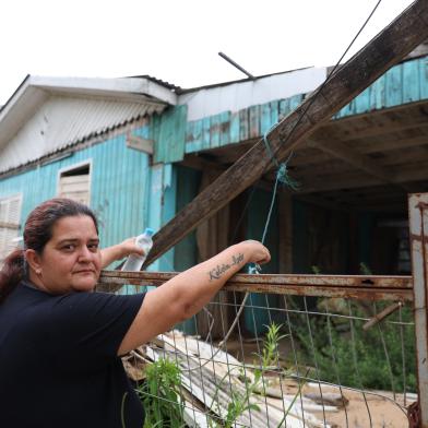
<svg viewBox="0 0 428 428">
<path fill-rule="evenodd" d="M 378 311 L 388 305 L 388 302 L 377 304 Z M 364 308 L 354 302 L 352 313 L 360 319 L 348 320 L 345 331 L 344 323 L 341 323 L 342 331 L 338 331 L 338 324 L 334 324 L 333 317 L 313 317 L 308 326 L 307 319 L 290 314 L 293 330 L 301 348 L 299 359 L 302 364 L 312 367 L 314 371 L 318 367 L 318 373 L 314 372 L 313 376 L 319 376 L 321 380 L 328 382 L 341 382 L 354 388 L 395 390 L 395 392 L 404 389 L 415 391 L 416 358 L 413 326 L 391 323 L 391 321 L 399 321 L 399 314 L 395 313 L 385 320 L 388 322 L 383 321 L 380 325 L 364 331 L 362 324 L 366 322 L 364 318 L 367 317 Z M 407 323 L 412 321 L 411 308 L 402 309 L 402 321 Z M 403 332 L 400 329 L 403 329 Z"/>
</svg>

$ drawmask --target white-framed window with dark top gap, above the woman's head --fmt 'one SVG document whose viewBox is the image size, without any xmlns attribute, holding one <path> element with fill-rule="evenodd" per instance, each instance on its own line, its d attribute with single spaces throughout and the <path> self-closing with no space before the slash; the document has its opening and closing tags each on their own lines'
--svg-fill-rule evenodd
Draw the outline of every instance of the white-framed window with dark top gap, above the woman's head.
<svg viewBox="0 0 428 428">
<path fill-rule="evenodd" d="M 59 174 L 58 195 L 90 204 L 91 164 L 63 169 Z"/>
</svg>

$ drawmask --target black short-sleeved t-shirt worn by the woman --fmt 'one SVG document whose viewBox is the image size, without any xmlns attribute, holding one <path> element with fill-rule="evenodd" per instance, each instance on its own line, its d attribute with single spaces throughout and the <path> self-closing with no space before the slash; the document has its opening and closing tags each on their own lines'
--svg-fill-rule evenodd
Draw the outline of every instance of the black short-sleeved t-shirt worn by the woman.
<svg viewBox="0 0 428 428">
<path fill-rule="evenodd" d="M 142 428 L 117 350 L 143 298 L 20 284 L 0 305 L 0 427 Z"/>
</svg>

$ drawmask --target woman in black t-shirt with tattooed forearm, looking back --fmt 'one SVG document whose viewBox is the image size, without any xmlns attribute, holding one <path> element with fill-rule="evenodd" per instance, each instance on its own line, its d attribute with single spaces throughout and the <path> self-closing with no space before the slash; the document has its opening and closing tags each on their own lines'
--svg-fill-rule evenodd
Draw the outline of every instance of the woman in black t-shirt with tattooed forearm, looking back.
<svg viewBox="0 0 428 428">
<path fill-rule="evenodd" d="M 29 214 L 0 274 L 0 427 L 141 428 L 119 357 L 192 317 L 245 263 L 270 260 L 243 241 L 146 295 L 116 296 L 91 293 L 100 269 L 139 250 L 98 245 L 85 205 L 52 199 Z"/>
</svg>

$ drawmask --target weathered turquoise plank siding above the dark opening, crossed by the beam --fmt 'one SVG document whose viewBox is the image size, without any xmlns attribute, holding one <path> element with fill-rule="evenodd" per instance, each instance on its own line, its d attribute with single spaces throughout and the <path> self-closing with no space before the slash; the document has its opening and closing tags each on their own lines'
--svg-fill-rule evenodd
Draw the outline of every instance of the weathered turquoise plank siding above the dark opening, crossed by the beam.
<svg viewBox="0 0 428 428">
<path fill-rule="evenodd" d="M 259 139 L 304 99 L 305 94 L 251 106 L 239 111 L 224 111 L 189 121 L 186 153 Z M 342 108 L 333 119 L 367 114 L 428 98 L 428 57 L 400 63 L 390 69 L 360 95 Z"/>
</svg>

